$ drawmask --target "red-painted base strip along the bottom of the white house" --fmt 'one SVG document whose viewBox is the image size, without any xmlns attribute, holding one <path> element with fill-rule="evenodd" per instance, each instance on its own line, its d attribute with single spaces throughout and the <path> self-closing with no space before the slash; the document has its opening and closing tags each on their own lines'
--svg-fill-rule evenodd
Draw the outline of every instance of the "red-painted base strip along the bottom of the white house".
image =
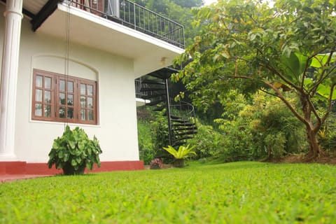
<svg viewBox="0 0 336 224">
<path fill-rule="evenodd" d="M 118 170 L 139 170 L 144 169 L 143 161 L 111 161 L 102 162 L 102 166 L 94 168 L 87 172 L 109 172 Z M 53 175 L 62 173 L 62 169 L 48 168 L 46 163 L 27 163 L 27 162 L 0 162 L 1 174 L 33 174 L 33 175 Z"/>
</svg>

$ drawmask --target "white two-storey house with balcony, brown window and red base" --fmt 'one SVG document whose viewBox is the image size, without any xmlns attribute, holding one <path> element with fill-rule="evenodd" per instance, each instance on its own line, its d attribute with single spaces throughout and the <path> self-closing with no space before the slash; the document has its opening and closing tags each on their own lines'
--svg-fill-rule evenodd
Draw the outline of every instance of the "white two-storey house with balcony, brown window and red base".
<svg viewBox="0 0 336 224">
<path fill-rule="evenodd" d="M 57 173 L 66 124 L 99 139 L 95 171 L 143 169 L 134 79 L 183 52 L 183 27 L 126 0 L 0 0 L 0 14 L 0 174 Z"/>
</svg>

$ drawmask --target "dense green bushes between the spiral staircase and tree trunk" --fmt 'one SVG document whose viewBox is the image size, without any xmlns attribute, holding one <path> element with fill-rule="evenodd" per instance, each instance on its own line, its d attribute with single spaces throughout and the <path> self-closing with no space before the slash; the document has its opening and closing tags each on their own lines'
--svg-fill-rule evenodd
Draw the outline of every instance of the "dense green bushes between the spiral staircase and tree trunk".
<svg viewBox="0 0 336 224">
<path fill-rule="evenodd" d="M 218 153 L 223 161 L 276 158 L 307 149 L 302 123 L 279 99 L 264 92 L 244 99 L 242 94 L 231 90 L 221 104 L 225 112 L 215 122 L 223 131 L 222 151 Z M 279 142 L 272 151 L 274 144 L 270 139 L 278 134 Z"/>
</svg>

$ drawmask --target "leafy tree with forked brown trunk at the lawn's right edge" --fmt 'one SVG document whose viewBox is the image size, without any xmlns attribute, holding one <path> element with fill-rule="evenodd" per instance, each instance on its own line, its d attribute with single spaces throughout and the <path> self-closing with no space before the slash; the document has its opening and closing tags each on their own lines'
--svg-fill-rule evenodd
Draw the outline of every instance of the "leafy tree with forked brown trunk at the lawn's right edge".
<svg viewBox="0 0 336 224">
<path fill-rule="evenodd" d="M 209 108 L 230 89 L 278 97 L 304 124 L 309 157 L 323 154 L 317 133 L 328 118 L 336 85 L 335 0 L 219 0 L 196 11 L 200 36 L 175 61 L 173 76 Z M 191 59 L 190 59 L 191 57 Z M 299 99 L 297 109 L 284 94 Z"/>
</svg>

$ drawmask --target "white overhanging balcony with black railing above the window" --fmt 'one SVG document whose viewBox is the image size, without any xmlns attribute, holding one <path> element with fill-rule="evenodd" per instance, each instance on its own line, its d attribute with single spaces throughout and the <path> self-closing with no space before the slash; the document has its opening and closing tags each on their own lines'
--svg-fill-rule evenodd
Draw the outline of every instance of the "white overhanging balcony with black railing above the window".
<svg viewBox="0 0 336 224">
<path fill-rule="evenodd" d="M 35 14 L 31 24 L 36 34 L 64 40 L 69 31 L 71 46 L 83 45 L 132 60 L 134 78 L 172 65 L 184 52 L 181 25 L 131 1 L 52 0 L 55 5 L 45 16 L 50 0 L 41 0 L 45 6 L 40 12 L 34 10 L 35 0 L 26 1 L 26 10 Z"/>
</svg>

